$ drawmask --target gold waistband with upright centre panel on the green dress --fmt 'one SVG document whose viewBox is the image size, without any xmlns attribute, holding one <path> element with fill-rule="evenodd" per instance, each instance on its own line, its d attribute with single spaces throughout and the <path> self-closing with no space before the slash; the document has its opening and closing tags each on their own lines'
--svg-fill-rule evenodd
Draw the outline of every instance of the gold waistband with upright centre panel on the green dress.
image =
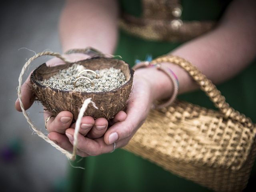
<svg viewBox="0 0 256 192">
<path fill-rule="evenodd" d="M 146 40 L 184 42 L 211 30 L 213 21 L 182 21 L 179 0 L 142 0 L 141 18 L 122 14 L 119 26 Z"/>
</svg>

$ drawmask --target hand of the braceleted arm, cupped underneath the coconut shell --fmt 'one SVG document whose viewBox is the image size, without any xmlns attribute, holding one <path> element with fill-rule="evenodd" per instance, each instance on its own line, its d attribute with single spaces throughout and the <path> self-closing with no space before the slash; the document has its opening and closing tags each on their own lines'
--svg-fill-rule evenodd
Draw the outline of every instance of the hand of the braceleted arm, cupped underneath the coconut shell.
<svg viewBox="0 0 256 192">
<path fill-rule="evenodd" d="M 158 79 L 158 81 L 156 81 L 155 78 Z M 161 80 L 167 80 L 168 82 Z M 167 89 L 163 89 L 161 82 L 164 82 Z M 120 111 L 116 114 L 113 120 L 114 125 L 106 130 L 105 128 L 108 126 L 106 119 L 99 118 L 94 121 L 89 116 L 82 118 L 82 124 L 90 124 L 92 129 L 88 129 L 88 132 L 84 134 L 84 132 L 81 132 L 80 128 L 77 154 L 83 157 L 96 156 L 111 152 L 113 150 L 112 144 L 114 142 L 116 142 L 116 148 L 128 144 L 132 136 L 146 119 L 152 101 L 157 98 L 169 96 L 168 86 L 169 89 L 171 89 L 172 86 L 170 80 L 162 72 L 159 72 L 156 69 L 138 70 L 138 72 L 134 74 L 133 90 L 127 103 L 126 113 Z M 160 96 L 161 94 L 166 95 Z M 59 119 L 58 116 L 56 118 Z M 106 127 L 104 127 L 103 130 L 97 130 L 96 126 L 98 125 L 106 125 Z M 48 137 L 51 140 L 56 142 L 60 147 L 72 151 L 74 124 L 68 129 L 65 127 L 61 130 L 56 130 L 56 126 L 53 126 L 52 129 L 50 124 L 47 127 L 49 127 L 48 130 L 50 129 Z M 64 132 L 66 136 L 63 134 Z M 96 134 L 96 132 L 98 133 Z"/>
</svg>

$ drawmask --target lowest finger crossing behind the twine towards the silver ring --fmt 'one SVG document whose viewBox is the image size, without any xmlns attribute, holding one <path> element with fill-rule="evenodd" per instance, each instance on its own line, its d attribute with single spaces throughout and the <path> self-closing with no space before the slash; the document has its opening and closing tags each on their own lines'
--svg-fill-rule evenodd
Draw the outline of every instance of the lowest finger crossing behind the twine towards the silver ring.
<svg viewBox="0 0 256 192">
<path fill-rule="evenodd" d="M 66 130 L 66 136 L 69 138 L 70 143 L 73 144 L 74 142 L 74 129 L 69 128 Z M 116 148 L 118 145 L 116 146 Z M 77 148 L 90 155 L 90 156 L 96 156 L 103 153 L 109 153 L 113 150 L 113 145 L 107 145 L 103 138 L 98 138 L 95 140 L 92 140 L 90 138 L 84 137 L 81 134 L 78 134 L 78 144 Z"/>
</svg>

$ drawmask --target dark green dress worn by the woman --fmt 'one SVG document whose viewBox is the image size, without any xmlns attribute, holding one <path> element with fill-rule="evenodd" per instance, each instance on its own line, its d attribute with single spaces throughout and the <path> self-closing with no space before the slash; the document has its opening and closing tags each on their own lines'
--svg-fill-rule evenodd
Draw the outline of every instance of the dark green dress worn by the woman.
<svg viewBox="0 0 256 192">
<path fill-rule="evenodd" d="M 182 19 L 218 20 L 227 3 L 220 0 L 183 0 Z M 120 8 L 124 12 L 140 16 L 142 5 L 140 1 L 123 0 L 120 1 Z M 151 54 L 155 58 L 170 52 L 180 44 L 179 42 L 143 40 L 120 31 L 115 54 L 121 55 L 123 60 L 130 65 L 134 65 L 136 59 L 144 60 L 147 54 Z M 254 110 L 256 106 L 255 72 L 256 65 L 252 64 L 232 80 L 218 86 L 227 102 L 236 110 L 252 118 L 253 122 L 256 122 Z M 214 108 L 201 91 L 184 94 L 179 98 L 194 104 Z M 80 162 L 72 164 L 85 168 L 85 170 L 70 168 L 68 190 L 72 192 L 210 191 L 208 188 L 171 174 L 123 149 L 117 149 L 111 154 L 83 158 Z"/>
</svg>

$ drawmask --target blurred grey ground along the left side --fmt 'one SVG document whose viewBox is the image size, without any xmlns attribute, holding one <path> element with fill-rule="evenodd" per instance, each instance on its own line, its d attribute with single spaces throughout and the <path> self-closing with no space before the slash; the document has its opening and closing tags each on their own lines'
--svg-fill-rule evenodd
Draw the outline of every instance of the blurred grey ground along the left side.
<svg viewBox="0 0 256 192">
<path fill-rule="evenodd" d="M 34 55 L 19 49 L 60 52 L 58 18 L 63 4 L 62 0 L 10 0 L 0 5 L 0 191 L 56 191 L 65 179 L 66 157 L 34 134 L 14 109 L 20 70 Z M 28 73 L 49 58 L 38 59 Z M 28 111 L 46 133 L 42 107 L 33 104 Z"/>
</svg>

